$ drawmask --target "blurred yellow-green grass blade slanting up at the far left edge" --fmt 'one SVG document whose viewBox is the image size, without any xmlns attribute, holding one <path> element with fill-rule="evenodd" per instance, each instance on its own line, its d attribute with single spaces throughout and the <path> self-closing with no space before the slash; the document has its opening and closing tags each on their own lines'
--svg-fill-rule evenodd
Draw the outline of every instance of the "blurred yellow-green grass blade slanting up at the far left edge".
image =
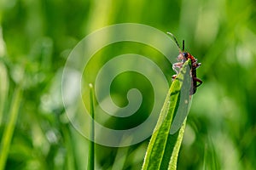
<svg viewBox="0 0 256 170">
<path fill-rule="evenodd" d="M 20 87 L 15 88 L 15 93 L 13 95 L 12 103 L 10 105 L 9 111 L 9 123 L 7 127 L 5 127 L 3 132 L 3 139 L 1 141 L 0 146 L 0 170 L 3 170 L 5 167 L 5 163 L 9 154 L 9 147 L 11 143 L 11 139 L 13 137 L 13 133 L 15 130 L 15 125 L 17 121 L 17 117 L 19 114 L 20 101 L 22 96 L 22 90 Z"/>
</svg>

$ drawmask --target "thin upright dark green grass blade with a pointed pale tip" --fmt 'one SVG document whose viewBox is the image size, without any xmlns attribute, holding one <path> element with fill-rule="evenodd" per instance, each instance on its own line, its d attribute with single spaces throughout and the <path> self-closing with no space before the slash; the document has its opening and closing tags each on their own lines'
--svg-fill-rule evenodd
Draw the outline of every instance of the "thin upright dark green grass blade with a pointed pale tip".
<svg viewBox="0 0 256 170">
<path fill-rule="evenodd" d="M 94 88 L 93 85 L 89 84 L 90 88 L 90 144 L 89 144 L 89 158 L 88 158 L 88 169 L 94 170 L 94 160 L 95 160 L 95 144 L 94 144 Z"/>
</svg>

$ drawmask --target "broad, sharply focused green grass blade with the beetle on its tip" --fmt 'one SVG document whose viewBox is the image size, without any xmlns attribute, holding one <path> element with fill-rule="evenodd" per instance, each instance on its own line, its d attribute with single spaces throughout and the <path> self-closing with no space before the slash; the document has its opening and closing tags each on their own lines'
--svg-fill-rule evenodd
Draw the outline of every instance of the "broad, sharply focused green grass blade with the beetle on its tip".
<svg viewBox="0 0 256 170">
<path fill-rule="evenodd" d="M 148 144 L 148 150 L 143 162 L 143 170 L 176 168 L 177 155 L 183 138 L 185 121 L 183 121 L 183 125 L 177 133 L 171 135 L 170 130 L 172 119 L 177 113 L 178 108 L 188 108 L 187 105 L 189 105 L 189 101 L 180 101 L 182 88 L 190 89 L 191 86 L 191 83 L 188 84 L 190 80 L 186 80 L 190 79 L 189 62 L 190 60 L 184 63 L 182 70 L 177 75 L 174 82 L 172 82 L 172 86 L 166 96 L 166 101 L 160 111 L 159 120 Z M 189 92 L 189 90 L 187 91 Z M 189 93 L 186 99 L 189 99 Z"/>
</svg>

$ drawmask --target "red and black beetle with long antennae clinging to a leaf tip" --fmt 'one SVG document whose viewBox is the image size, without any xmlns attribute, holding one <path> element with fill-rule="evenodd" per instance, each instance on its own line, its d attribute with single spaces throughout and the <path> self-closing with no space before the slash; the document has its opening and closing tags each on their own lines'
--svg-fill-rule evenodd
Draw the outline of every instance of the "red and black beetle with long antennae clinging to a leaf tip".
<svg viewBox="0 0 256 170">
<path fill-rule="evenodd" d="M 174 63 L 172 65 L 173 71 L 176 71 L 176 73 L 178 74 L 180 69 L 183 67 L 184 62 L 186 62 L 188 59 L 191 59 L 190 71 L 191 71 L 191 77 L 192 77 L 192 87 L 190 89 L 190 95 L 195 94 L 196 88 L 198 88 L 202 83 L 201 79 L 196 77 L 196 69 L 201 65 L 201 63 L 198 63 L 197 59 L 195 59 L 193 55 L 189 54 L 188 52 L 184 52 L 184 40 L 183 40 L 183 48 L 182 48 L 183 50 L 181 50 L 176 37 L 174 37 L 174 35 L 171 32 L 167 32 L 167 34 L 169 34 L 173 38 L 179 50 L 179 54 L 177 56 L 177 60 L 179 62 Z M 177 74 L 172 76 L 172 80 L 174 80 L 177 77 Z"/>
</svg>

